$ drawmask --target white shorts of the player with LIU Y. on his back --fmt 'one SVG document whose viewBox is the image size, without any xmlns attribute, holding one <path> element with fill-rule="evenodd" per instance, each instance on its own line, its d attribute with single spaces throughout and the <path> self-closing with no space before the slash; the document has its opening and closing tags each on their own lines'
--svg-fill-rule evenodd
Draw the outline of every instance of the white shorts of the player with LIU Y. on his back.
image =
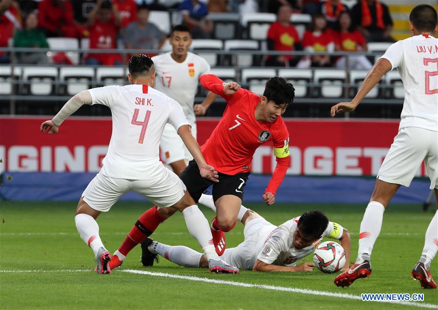
<svg viewBox="0 0 438 310">
<path fill-rule="evenodd" d="M 409 186 L 424 161 L 430 188 L 438 188 L 438 132 L 417 127 L 401 128 L 386 154 L 377 178 Z"/>
</svg>

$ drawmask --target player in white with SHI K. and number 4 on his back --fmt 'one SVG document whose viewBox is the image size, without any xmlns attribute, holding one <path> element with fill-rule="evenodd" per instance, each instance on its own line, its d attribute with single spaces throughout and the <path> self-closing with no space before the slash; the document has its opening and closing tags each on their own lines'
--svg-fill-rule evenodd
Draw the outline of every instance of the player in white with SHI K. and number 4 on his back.
<svg viewBox="0 0 438 310">
<path fill-rule="evenodd" d="M 164 126 L 170 123 L 196 158 L 201 177 L 218 182 L 216 171 L 206 163 L 198 143 L 190 133 L 190 124 L 181 106 L 153 89 L 155 70 L 150 57 L 132 56 L 128 69 L 128 79 L 133 85 L 81 91 L 52 120 L 42 123 L 40 128 L 42 132 L 57 133 L 61 123 L 84 104 L 101 104 L 111 109 L 113 132 L 108 152 L 99 173 L 83 192 L 75 217 L 80 237 L 93 249 L 97 273 L 111 273 L 111 257 L 99 237 L 99 226 L 95 219 L 101 212 L 109 211 L 123 194 L 131 190 L 157 206 L 172 206 L 182 212 L 190 234 L 209 256 L 211 271 L 238 272 L 219 259 L 212 245 L 209 222 L 183 182 L 159 161 L 159 137 Z M 147 213 L 159 217 L 156 207 Z M 151 227 L 150 223 L 148 227 Z M 138 229 L 142 236 L 147 232 L 147 228 L 141 225 Z"/>
</svg>

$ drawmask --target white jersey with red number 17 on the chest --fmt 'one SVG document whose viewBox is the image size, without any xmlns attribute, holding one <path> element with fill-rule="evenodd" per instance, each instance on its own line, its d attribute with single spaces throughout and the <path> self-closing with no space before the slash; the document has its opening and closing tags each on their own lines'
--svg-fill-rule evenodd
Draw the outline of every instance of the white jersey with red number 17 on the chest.
<svg viewBox="0 0 438 310">
<path fill-rule="evenodd" d="M 176 100 L 184 110 L 190 124 L 195 123 L 194 98 L 199 76 L 210 71 L 208 62 L 188 52 L 179 63 L 173 60 L 171 52 L 152 57 L 155 66 L 155 89 Z"/>
</svg>

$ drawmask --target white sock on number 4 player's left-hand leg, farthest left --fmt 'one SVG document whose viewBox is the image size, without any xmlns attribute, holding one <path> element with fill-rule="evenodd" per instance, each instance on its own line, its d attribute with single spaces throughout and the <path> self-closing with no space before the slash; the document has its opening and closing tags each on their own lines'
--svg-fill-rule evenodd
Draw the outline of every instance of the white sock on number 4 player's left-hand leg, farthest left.
<svg viewBox="0 0 438 310">
<path fill-rule="evenodd" d="M 76 229 L 80 237 L 93 250 L 95 256 L 103 246 L 102 240 L 99 236 L 99 225 L 96 220 L 88 214 L 78 214 L 75 217 Z"/>
</svg>

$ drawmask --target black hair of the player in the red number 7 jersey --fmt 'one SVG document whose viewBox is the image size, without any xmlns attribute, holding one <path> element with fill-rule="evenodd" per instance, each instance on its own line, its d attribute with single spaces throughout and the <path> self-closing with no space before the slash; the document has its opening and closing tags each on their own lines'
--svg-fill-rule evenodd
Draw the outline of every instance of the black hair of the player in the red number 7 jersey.
<svg viewBox="0 0 438 310">
<path fill-rule="evenodd" d="M 284 77 L 274 76 L 267 80 L 263 95 L 267 101 L 273 101 L 276 104 L 290 105 L 295 97 L 295 89 L 292 83 L 288 83 Z"/>
</svg>

